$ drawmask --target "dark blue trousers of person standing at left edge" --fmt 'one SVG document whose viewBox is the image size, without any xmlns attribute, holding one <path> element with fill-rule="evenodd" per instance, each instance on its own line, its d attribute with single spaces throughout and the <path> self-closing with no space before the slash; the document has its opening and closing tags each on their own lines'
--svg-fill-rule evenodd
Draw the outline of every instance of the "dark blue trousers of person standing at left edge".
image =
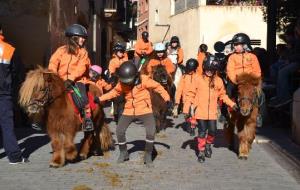
<svg viewBox="0 0 300 190">
<path fill-rule="evenodd" d="M 14 133 L 14 113 L 11 96 L 0 96 L 0 126 L 3 147 L 11 162 L 20 161 L 22 153 Z"/>
</svg>

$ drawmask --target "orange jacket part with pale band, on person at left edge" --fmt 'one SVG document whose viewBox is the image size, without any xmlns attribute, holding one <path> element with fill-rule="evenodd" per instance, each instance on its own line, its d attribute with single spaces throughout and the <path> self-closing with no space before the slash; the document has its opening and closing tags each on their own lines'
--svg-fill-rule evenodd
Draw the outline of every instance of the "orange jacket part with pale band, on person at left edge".
<svg viewBox="0 0 300 190">
<path fill-rule="evenodd" d="M 4 36 L 0 35 L 0 63 L 10 64 L 15 48 L 3 40 Z"/>
</svg>

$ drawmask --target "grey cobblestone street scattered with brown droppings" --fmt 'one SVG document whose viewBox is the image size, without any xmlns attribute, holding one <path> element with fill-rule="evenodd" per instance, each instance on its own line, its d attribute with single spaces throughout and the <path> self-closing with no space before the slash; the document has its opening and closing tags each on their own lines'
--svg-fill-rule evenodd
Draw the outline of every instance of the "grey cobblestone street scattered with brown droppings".
<svg viewBox="0 0 300 190">
<path fill-rule="evenodd" d="M 238 160 L 236 154 L 226 148 L 221 130 L 212 158 L 204 164 L 198 163 L 193 138 L 177 126 L 182 120 L 182 117 L 175 119 L 174 127 L 156 136 L 155 167 L 151 169 L 142 162 L 145 131 L 136 124 L 127 131 L 130 161 L 124 164 L 116 164 L 116 149 L 63 168 L 49 168 L 48 137 L 25 135 L 19 143 L 25 153 L 30 154 L 30 163 L 9 165 L 3 148 L 0 149 L 0 189 L 300 189 L 299 178 L 291 174 L 299 170 L 284 167 L 284 158 L 278 159 L 275 151 L 267 151 L 268 143 L 254 143 L 249 159 Z M 115 123 L 109 125 L 114 132 Z M 29 129 L 17 131 L 26 130 Z M 79 133 L 77 143 L 81 137 Z"/>
</svg>

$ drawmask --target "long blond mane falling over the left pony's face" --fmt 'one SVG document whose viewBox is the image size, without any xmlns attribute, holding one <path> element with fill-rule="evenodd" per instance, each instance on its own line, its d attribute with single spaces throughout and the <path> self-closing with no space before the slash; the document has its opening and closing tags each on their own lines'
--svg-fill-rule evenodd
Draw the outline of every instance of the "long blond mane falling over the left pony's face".
<svg viewBox="0 0 300 190">
<path fill-rule="evenodd" d="M 29 71 L 19 91 L 19 104 L 25 107 L 29 104 L 33 92 L 40 91 L 45 87 L 44 73 L 52 73 L 48 69 L 38 66 L 37 69 Z"/>
</svg>

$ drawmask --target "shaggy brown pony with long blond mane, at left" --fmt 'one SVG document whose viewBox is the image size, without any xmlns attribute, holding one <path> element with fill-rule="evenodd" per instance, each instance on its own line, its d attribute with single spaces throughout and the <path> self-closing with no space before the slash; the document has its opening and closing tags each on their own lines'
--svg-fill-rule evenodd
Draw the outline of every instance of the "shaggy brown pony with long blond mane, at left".
<svg viewBox="0 0 300 190">
<path fill-rule="evenodd" d="M 93 85 L 89 92 L 100 95 L 100 90 Z M 47 69 L 38 68 L 30 71 L 20 89 L 19 103 L 31 114 L 43 113 L 48 135 L 53 149 L 50 167 L 62 167 L 65 160 L 77 158 L 74 138 L 81 130 L 81 121 L 74 112 L 73 103 L 68 97 L 63 80 Z M 79 156 L 86 159 L 92 147 L 107 151 L 112 145 L 112 136 L 104 123 L 103 108 L 97 106 L 92 113 L 94 132 L 85 132 Z"/>
</svg>

